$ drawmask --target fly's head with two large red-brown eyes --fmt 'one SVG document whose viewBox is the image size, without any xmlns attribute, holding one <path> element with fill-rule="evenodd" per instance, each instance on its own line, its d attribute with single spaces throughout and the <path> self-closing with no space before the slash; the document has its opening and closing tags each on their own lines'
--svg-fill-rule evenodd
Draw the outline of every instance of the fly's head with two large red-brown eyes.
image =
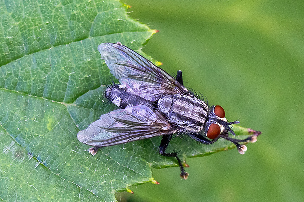
<svg viewBox="0 0 304 202">
<path fill-rule="evenodd" d="M 228 131 L 235 135 L 234 131 L 230 128 L 230 125 L 240 123 L 239 121 L 228 122 L 225 118 L 224 109 L 219 106 L 212 106 L 209 109 L 206 124 L 205 132 L 209 139 L 215 139 L 220 134 L 228 135 Z M 225 134 L 226 133 L 226 134 Z"/>
</svg>

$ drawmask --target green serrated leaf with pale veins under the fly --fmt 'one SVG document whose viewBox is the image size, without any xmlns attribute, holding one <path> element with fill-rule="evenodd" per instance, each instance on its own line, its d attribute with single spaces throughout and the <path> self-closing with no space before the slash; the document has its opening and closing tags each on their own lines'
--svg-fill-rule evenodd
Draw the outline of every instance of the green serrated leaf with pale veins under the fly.
<svg viewBox="0 0 304 202">
<path fill-rule="evenodd" d="M 0 1 L 3 201 L 115 201 L 115 193 L 130 192 L 131 185 L 156 183 L 152 167 L 177 166 L 156 154 L 160 137 L 106 147 L 95 156 L 76 137 L 115 108 L 103 97 L 113 76 L 97 46 L 120 41 L 141 52 L 155 33 L 126 11 L 116 0 Z M 200 145 L 174 138 L 168 149 L 182 150 L 185 159 L 231 147 L 224 140 Z"/>
</svg>

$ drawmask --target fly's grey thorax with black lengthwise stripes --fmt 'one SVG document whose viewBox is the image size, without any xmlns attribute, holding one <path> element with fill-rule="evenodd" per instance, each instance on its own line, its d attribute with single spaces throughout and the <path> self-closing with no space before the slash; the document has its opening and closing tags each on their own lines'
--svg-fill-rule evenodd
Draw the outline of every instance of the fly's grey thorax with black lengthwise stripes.
<svg viewBox="0 0 304 202">
<path fill-rule="evenodd" d="M 208 106 L 192 95 L 163 95 L 157 104 L 160 112 L 183 133 L 199 133 L 206 121 Z"/>
</svg>

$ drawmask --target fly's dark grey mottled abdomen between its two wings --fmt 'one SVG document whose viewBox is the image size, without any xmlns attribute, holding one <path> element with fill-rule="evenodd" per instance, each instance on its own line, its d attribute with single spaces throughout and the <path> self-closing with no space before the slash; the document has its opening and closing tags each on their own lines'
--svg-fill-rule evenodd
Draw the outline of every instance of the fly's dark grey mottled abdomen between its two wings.
<svg viewBox="0 0 304 202">
<path fill-rule="evenodd" d="M 128 89 L 124 88 L 122 85 L 108 87 L 104 94 L 106 98 L 110 99 L 121 109 L 137 105 L 146 105 L 152 109 L 151 101 L 145 100 L 144 98 L 129 92 Z"/>
</svg>

